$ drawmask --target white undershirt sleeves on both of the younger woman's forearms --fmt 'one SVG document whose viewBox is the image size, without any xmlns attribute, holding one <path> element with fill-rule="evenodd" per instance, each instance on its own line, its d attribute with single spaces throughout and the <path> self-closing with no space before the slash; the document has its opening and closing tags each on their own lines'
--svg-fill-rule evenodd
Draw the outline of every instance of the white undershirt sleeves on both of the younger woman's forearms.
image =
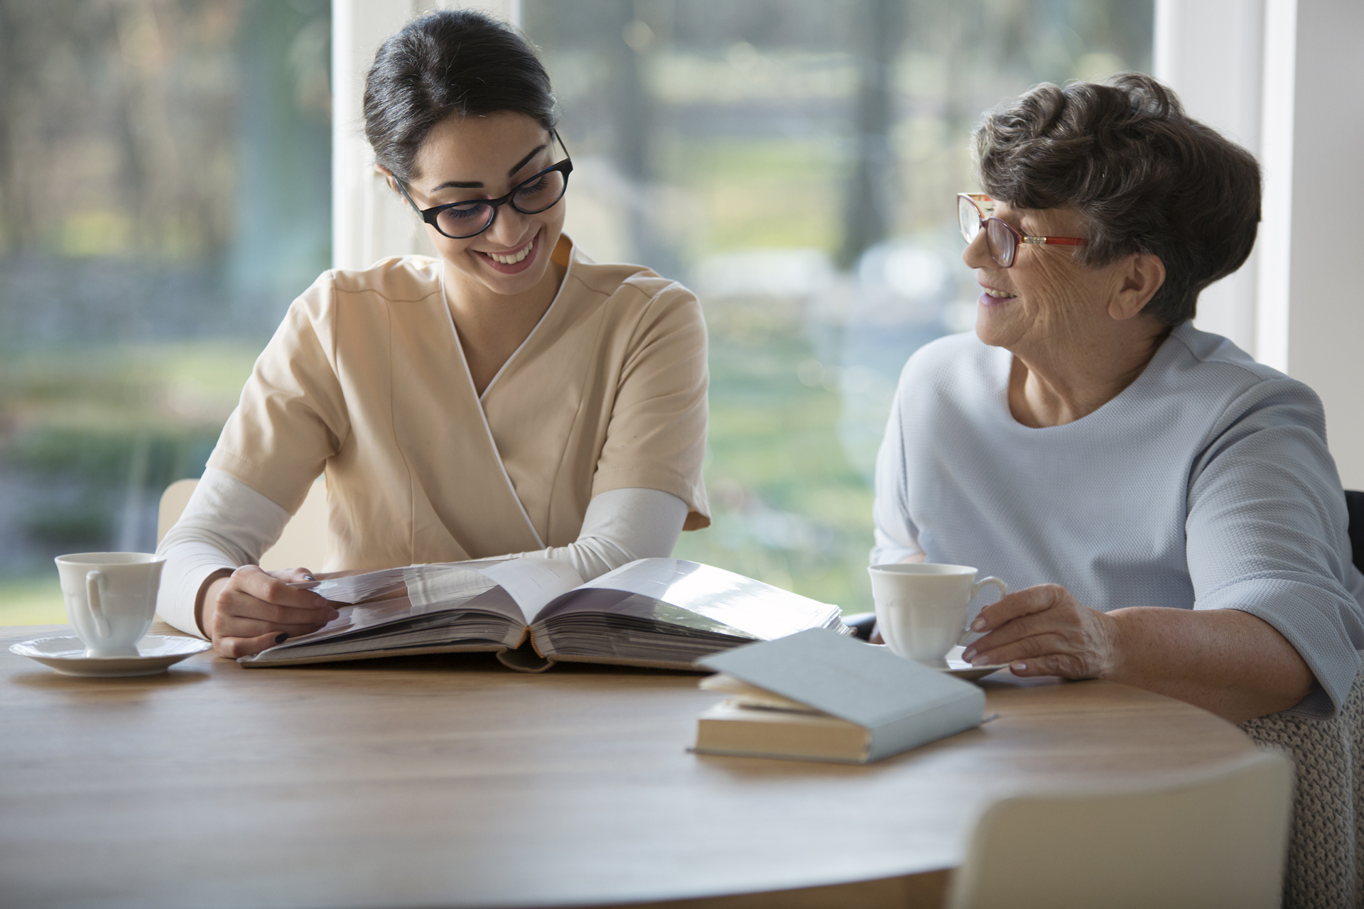
<svg viewBox="0 0 1364 909">
<path fill-rule="evenodd" d="M 636 559 L 671 555 L 686 512 L 685 502 L 659 489 L 611 489 L 588 503 L 574 542 L 505 557 L 555 559 L 591 581 Z M 206 469 L 180 519 L 157 546 L 166 560 L 157 612 L 180 631 L 205 636 L 194 615 L 205 583 L 221 571 L 259 564 L 289 518 L 232 474 Z"/>
</svg>

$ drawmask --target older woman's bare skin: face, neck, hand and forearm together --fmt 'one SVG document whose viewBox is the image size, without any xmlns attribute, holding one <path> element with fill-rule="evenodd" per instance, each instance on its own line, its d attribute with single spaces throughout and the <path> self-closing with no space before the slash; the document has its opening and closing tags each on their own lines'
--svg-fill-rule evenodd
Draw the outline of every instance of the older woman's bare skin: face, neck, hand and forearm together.
<svg viewBox="0 0 1364 909">
<path fill-rule="evenodd" d="M 1084 236 L 1075 211 L 1000 203 L 994 214 L 1024 234 Z M 1086 268 L 1073 262 L 1073 247 L 1023 244 L 1013 267 L 1001 268 L 981 232 L 962 258 L 982 288 L 977 335 L 1013 353 L 1009 409 L 1023 425 L 1094 413 L 1142 373 L 1169 331 L 1142 315 L 1165 279 L 1155 256 Z M 1065 587 L 1038 585 L 985 606 L 971 630 L 985 632 L 966 650 L 978 665 L 1123 681 L 1233 722 L 1286 710 L 1315 684 L 1284 635 L 1236 609 L 1099 612 Z"/>
</svg>

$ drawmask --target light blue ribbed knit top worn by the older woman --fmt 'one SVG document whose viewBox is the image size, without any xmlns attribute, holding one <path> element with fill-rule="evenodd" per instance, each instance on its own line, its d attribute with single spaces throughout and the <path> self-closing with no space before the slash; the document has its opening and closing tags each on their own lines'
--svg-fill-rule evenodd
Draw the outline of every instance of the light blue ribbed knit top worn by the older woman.
<svg viewBox="0 0 1364 909">
<path fill-rule="evenodd" d="M 1364 647 L 1364 576 L 1316 394 L 1185 323 L 1106 405 L 1033 429 L 1009 412 L 1011 364 L 973 333 L 910 357 L 872 564 L 923 552 L 1102 611 L 1241 609 L 1316 673 L 1294 711 L 1333 715 Z"/>
</svg>

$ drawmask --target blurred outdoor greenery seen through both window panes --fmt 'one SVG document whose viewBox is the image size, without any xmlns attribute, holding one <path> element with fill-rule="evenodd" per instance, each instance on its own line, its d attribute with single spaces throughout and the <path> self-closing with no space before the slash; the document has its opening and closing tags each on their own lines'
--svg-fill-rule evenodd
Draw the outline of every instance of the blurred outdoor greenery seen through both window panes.
<svg viewBox="0 0 1364 909">
<path fill-rule="evenodd" d="M 971 327 L 966 140 L 1028 86 L 1148 70 L 1153 0 L 522 0 L 569 230 L 697 290 L 711 529 L 678 557 L 870 609 L 904 360 Z M 0 0 L 0 624 L 52 556 L 150 551 L 330 264 L 327 0 Z"/>
</svg>

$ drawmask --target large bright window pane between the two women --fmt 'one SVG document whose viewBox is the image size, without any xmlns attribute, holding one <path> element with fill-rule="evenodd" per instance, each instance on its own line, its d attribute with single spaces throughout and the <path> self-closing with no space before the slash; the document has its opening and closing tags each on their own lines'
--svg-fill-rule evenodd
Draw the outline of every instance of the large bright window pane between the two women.
<svg viewBox="0 0 1364 909">
<path fill-rule="evenodd" d="M 522 0 L 574 155 L 567 229 L 700 294 L 709 530 L 679 557 L 870 608 L 904 360 L 970 328 L 953 194 L 981 112 L 1147 70 L 1132 0 Z"/>
</svg>

